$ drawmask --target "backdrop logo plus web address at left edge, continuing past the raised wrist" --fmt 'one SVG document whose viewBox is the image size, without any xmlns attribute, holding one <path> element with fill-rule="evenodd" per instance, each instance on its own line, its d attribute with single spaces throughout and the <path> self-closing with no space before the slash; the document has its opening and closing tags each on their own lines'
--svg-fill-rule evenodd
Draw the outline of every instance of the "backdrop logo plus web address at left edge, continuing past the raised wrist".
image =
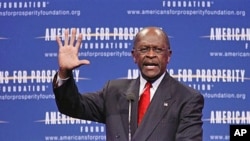
<svg viewBox="0 0 250 141">
<path fill-rule="evenodd" d="M 46 95 L 41 92 L 50 89 L 56 72 L 57 70 L 2 70 L 0 71 L 0 93 L 3 95 L 0 95 L 0 100 L 54 99 L 53 95 Z M 76 82 L 86 79 L 81 78 L 79 74 L 80 70 L 73 70 Z M 13 95 L 13 93 L 16 95 Z M 27 95 L 28 93 L 30 95 Z"/>
</svg>

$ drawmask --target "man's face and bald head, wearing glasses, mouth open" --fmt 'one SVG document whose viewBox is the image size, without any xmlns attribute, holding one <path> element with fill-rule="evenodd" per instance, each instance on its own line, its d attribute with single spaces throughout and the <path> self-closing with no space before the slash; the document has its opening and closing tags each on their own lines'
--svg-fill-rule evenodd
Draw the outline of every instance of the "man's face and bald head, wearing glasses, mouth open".
<svg viewBox="0 0 250 141">
<path fill-rule="evenodd" d="M 139 33 L 132 55 L 142 76 L 154 80 L 166 71 L 171 51 L 161 31 L 145 29 Z"/>
</svg>

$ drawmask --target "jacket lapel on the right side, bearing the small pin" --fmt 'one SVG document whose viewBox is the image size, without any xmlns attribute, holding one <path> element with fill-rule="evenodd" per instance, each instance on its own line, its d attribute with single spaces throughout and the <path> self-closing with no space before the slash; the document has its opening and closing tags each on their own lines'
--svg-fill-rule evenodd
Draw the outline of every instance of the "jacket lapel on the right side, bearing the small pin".
<svg viewBox="0 0 250 141">
<path fill-rule="evenodd" d="M 167 79 L 168 77 L 169 75 L 166 74 L 156 90 L 146 115 L 136 130 L 133 139 L 147 140 L 147 137 L 154 131 L 164 114 L 167 113 L 169 107 L 174 102 L 170 95 L 171 89 Z"/>
</svg>

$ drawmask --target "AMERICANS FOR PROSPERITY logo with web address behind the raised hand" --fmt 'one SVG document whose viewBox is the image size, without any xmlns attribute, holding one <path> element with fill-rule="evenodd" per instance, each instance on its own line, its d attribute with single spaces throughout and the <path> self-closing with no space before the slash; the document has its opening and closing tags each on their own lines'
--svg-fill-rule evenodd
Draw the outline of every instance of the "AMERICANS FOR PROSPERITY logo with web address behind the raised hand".
<svg viewBox="0 0 250 141">
<path fill-rule="evenodd" d="M 45 41 L 65 39 L 65 30 L 72 28 L 46 28 L 45 36 L 36 37 Z M 83 57 L 130 57 L 132 40 L 141 27 L 82 27 L 76 28 L 76 39 L 83 35 L 79 56 Z M 70 32 L 71 33 L 71 32 Z M 71 35 L 69 35 L 71 36 Z M 57 53 L 45 53 L 46 57 L 57 57 Z"/>
</svg>

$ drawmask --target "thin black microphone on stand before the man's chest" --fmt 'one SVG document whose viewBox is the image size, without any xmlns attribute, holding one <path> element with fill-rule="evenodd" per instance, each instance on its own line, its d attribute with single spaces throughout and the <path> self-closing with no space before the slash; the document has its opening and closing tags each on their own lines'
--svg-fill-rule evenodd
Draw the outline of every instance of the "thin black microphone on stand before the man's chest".
<svg viewBox="0 0 250 141">
<path fill-rule="evenodd" d="M 135 95 L 134 94 L 127 94 L 126 96 L 128 100 L 128 140 L 131 141 L 131 110 L 132 110 L 132 102 L 135 100 Z"/>
</svg>

